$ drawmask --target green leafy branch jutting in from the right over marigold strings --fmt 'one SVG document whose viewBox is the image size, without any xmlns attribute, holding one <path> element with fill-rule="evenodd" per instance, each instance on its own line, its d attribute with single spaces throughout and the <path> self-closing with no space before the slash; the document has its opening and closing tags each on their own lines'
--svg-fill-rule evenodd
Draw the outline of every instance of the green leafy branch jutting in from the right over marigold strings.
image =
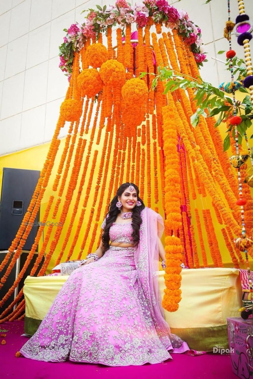
<svg viewBox="0 0 253 379">
<path fill-rule="evenodd" d="M 144 77 L 147 73 L 142 72 L 140 77 Z M 199 123 L 199 117 L 213 117 L 218 116 L 215 127 L 218 127 L 221 122 L 233 114 L 233 101 L 231 97 L 226 96 L 225 92 L 221 89 L 211 85 L 211 83 L 203 81 L 200 77 L 195 79 L 188 75 L 184 75 L 181 72 L 171 70 L 169 67 L 158 67 L 157 74 L 152 81 L 152 88 L 157 86 L 158 80 L 165 82 L 164 94 L 168 91 L 176 91 L 176 89 L 187 90 L 189 88 L 194 89 L 194 100 L 196 101 L 196 112 L 191 116 L 191 124 L 196 127 Z M 246 91 L 247 92 L 247 91 Z M 248 92 L 247 92 L 248 93 Z M 250 96 L 245 96 L 242 102 L 236 101 L 236 113 L 242 117 L 242 122 L 238 125 L 238 139 L 239 143 L 242 142 L 242 136 L 246 130 L 251 126 L 253 119 L 252 104 Z M 229 134 L 232 132 L 233 138 L 235 138 L 234 126 L 228 129 L 228 135 L 224 140 L 224 151 L 230 146 Z M 251 136 L 252 138 L 253 136 Z"/>
</svg>

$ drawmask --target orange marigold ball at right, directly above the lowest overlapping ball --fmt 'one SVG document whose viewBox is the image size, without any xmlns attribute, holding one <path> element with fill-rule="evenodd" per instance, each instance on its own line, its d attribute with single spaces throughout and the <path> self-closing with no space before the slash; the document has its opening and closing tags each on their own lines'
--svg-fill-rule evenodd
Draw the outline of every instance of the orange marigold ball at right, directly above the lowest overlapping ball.
<svg viewBox="0 0 253 379">
<path fill-rule="evenodd" d="M 147 102 L 149 89 L 143 80 L 139 78 L 133 78 L 126 81 L 126 83 L 123 85 L 122 96 L 126 104 L 144 104 Z"/>
</svg>

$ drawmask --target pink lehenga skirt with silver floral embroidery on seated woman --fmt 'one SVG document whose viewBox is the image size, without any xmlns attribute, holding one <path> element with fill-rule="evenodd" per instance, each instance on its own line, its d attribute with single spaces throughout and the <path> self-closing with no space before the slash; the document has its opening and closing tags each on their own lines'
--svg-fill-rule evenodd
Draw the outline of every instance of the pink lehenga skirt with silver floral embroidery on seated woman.
<svg viewBox="0 0 253 379">
<path fill-rule="evenodd" d="M 37 332 L 21 348 L 23 356 L 109 366 L 171 358 L 168 350 L 177 346 L 172 341 L 168 348 L 168 341 L 164 346 L 158 337 L 138 280 L 134 249 L 110 246 L 97 262 L 73 271 Z"/>
</svg>

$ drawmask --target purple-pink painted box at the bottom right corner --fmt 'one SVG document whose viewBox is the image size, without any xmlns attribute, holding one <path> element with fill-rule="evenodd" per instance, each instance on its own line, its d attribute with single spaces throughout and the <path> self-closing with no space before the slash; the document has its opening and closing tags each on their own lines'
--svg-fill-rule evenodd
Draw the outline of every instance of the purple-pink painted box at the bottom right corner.
<svg viewBox="0 0 253 379">
<path fill-rule="evenodd" d="M 253 379 L 253 318 L 228 318 L 228 340 L 232 371 Z"/>
</svg>

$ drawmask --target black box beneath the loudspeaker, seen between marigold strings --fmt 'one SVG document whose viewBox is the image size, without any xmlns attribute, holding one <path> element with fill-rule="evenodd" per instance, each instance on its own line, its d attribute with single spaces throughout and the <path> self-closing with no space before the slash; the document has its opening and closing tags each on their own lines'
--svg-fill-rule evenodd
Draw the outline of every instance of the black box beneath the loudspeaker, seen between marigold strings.
<svg viewBox="0 0 253 379">
<path fill-rule="evenodd" d="M 6 254 L 8 253 L 8 251 L 0 251 L 0 264 L 3 262 Z M 20 271 L 22 270 L 22 268 L 24 267 L 24 264 L 25 264 L 25 261 L 27 259 L 27 256 L 29 254 L 29 251 L 22 251 L 21 255 L 19 256 L 19 258 L 17 259 L 13 269 L 11 270 L 11 273 L 9 274 L 9 276 L 7 277 L 6 279 L 6 282 L 4 283 L 3 287 L 0 289 L 0 300 L 3 299 L 3 297 L 6 295 L 6 293 L 8 292 L 9 288 L 11 288 L 11 286 L 13 285 L 15 279 L 18 277 Z M 6 272 L 6 269 L 8 268 L 8 265 L 9 263 L 11 262 L 11 259 L 13 258 L 13 254 L 11 254 L 11 258 L 9 259 L 9 262 L 7 263 L 7 265 L 5 266 L 5 268 L 3 269 L 2 273 L 1 274 L 4 274 Z M 19 291 L 21 290 L 21 288 L 23 287 L 24 285 L 24 281 L 25 281 L 25 278 L 30 275 L 30 272 L 32 271 L 32 268 L 35 264 L 35 261 L 36 261 L 36 258 L 38 257 L 38 252 L 36 252 L 33 257 L 32 257 L 32 260 L 31 262 L 29 263 L 25 273 L 24 273 L 24 276 L 22 277 L 21 281 L 19 282 L 19 284 L 17 285 L 17 288 L 14 290 L 14 292 L 11 294 L 11 296 L 6 300 L 5 304 L 3 304 L 3 307 L 0 308 L 0 313 L 2 313 L 14 300 L 14 298 L 16 298 L 17 294 L 19 293 Z M 44 257 L 43 259 L 41 260 L 41 263 L 39 265 L 39 267 L 37 268 L 36 270 L 36 273 L 34 276 L 36 276 L 38 274 L 38 272 L 40 271 L 41 269 L 41 266 L 43 265 L 43 262 L 44 262 Z M 22 298 L 20 299 L 20 301 L 24 299 L 24 295 L 22 296 Z M 14 306 L 14 308 L 16 308 L 16 306 L 18 305 L 18 303 Z M 11 313 L 11 312 L 9 312 Z"/>
</svg>

